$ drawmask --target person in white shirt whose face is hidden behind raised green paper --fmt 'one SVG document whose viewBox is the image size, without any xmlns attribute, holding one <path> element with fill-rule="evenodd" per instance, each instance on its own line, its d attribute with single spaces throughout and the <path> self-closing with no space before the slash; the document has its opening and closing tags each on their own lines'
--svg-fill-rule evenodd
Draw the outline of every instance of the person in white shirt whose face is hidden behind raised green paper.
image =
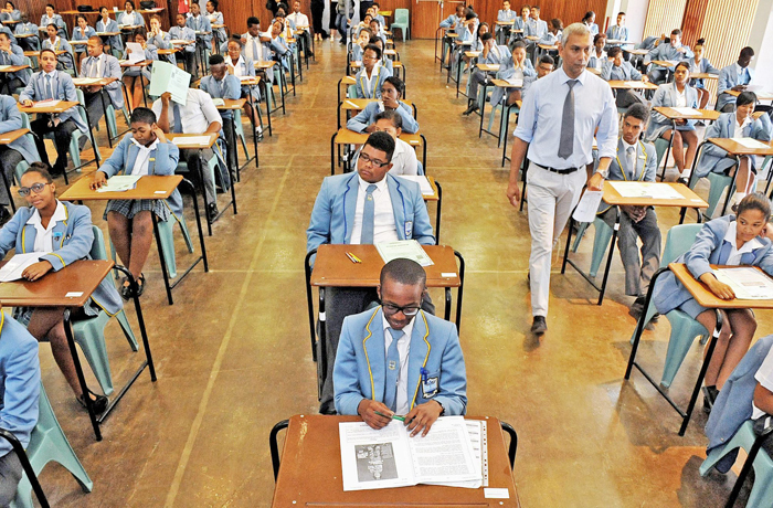
<svg viewBox="0 0 773 508">
<path fill-rule="evenodd" d="M 158 118 L 158 126 L 165 134 L 183 133 L 183 134 L 211 134 L 221 133 L 223 119 L 218 112 L 212 97 L 201 89 L 188 88 L 188 102 L 184 106 L 171 100 L 169 92 L 156 99 L 152 110 Z M 220 150 L 215 144 L 212 146 L 215 150 Z M 188 168 L 191 174 L 198 176 L 200 150 L 180 150 L 180 159 L 188 161 Z M 203 160 L 210 160 L 214 156 L 212 149 L 201 151 Z M 219 157 L 220 163 L 224 157 Z M 201 171 L 203 176 L 204 191 L 207 193 L 207 216 L 210 221 L 218 215 L 218 195 L 215 194 L 214 181 L 211 178 L 209 170 Z M 225 189 L 230 181 L 227 180 L 227 169 L 220 172 L 224 179 L 223 188 Z"/>
</svg>

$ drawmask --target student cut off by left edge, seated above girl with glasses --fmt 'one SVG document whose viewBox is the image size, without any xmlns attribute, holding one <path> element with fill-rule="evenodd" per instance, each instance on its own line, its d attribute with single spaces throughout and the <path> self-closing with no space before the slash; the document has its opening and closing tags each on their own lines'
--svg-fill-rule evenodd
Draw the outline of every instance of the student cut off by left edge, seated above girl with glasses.
<svg viewBox="0 0 773 508">
<path fill-rule="evenodd" d="M 10 95 L 0 95 L 0 135 L 21 128 L 21 112 L 17 107 L 17 102 Z M 0 145 L 0 171 L 6 176 L 6 181 L 13 182 L 13 172 L 17 165 L 25 160 L 32 163 L 40 160 L 38 149 L 30 136 L 22 136 L 8 145 Z M 11 197 L 8 195 L 6 186 L 0 186 L 0 225 L 8 222 L 11 212 L 8 205 L 11 204 Z"/>
</svg>

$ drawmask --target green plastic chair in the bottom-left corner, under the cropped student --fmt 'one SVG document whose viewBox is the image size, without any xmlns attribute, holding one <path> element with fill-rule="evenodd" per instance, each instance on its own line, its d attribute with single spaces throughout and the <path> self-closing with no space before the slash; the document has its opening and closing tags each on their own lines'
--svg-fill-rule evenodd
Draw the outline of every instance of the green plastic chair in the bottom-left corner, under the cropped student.
<svg viewBox="0 0 773 508">
<path fill-rule="evenodd" d="M 40 475 L 43 467 L 53 461 L 60 463 L 73 475 L 84 493 L 91 493 L 94 488 L 94 481 L 88 477 L 88 473 L 78 461 L 56 420 L 43 383 L 40 385 L 38 424 L 32 430 L 27 456 L 35 475 Z M 17 486 L 17 496 L 11 502 L 11 507 L 32 508 L 32 486 L 27 475 L 22 476 L 19 486 Z"/>
</svg>

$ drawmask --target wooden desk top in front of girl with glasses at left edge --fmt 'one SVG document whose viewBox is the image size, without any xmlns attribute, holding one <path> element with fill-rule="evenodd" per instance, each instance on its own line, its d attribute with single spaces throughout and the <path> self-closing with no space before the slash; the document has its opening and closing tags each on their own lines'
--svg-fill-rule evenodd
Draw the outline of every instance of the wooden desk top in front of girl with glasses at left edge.
<svg viewBox="0 0 773 508">
<path fill-rule="evenodd" d="M 81 260 L 35 281 L 0 284 L 3 307 L 83 307 L 110 273 L 112 261 Z M 67 296 L 67 295 L 71 296 Z"/>
</svg>

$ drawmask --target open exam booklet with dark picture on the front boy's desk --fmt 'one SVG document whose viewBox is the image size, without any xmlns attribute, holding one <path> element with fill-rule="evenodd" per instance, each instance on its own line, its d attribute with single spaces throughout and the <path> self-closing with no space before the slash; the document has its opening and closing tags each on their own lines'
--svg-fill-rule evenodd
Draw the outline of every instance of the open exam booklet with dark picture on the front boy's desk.
<svg viewBox="0 0 773 508">
<path fill-rule="evenodd" d="M 484 485 L 485 422 L 443 416 L 426 436 L 411 437 L 392 421 L 381 430 L 364 422 L 339 423 L 343 490 L 417 484 L 478 488 Z"/>
</svg>

